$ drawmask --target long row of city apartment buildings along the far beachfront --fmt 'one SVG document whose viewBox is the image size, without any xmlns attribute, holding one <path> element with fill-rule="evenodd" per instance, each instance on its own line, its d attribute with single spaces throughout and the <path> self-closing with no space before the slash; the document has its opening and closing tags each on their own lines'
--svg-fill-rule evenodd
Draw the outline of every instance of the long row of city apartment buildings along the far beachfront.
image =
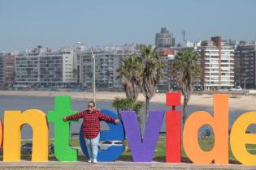
<svg viewBox="0 0 256 170">
<path fill-rule="evenodd" d="M 245 41 L 233 42 L 222 40 L 220 36 L 211 36 L 200 44 L 195 43 L 191 46 L 188 43 L 173 47 L 167 30 L 162 31 L 167 34 L 161 34 L 160 37 L 156 34 L 156 38 L 159 38 L 159 42 L 167 44 L 159 44 L 156 53 L 164 63 L 167 63 L 167 66 L 163 69 L 163 79 L 157 84 L 158 91 L 178 88 L 176 74 L 171 75 L 171 70 L 176 57 L 186 50 L 200 56 L 197 62 L 201 63 L 203 71 L 202 77 L 193 82 L 195 89 L 206 91 L 230 90 L 232 87 L 241 89 L 241 85 L 245 86 L 245 83 L 246 87 L 256 87 L 254 79 L 256 42 L 250 44 Z M 2 84 L 2 87 L 17 88 L 90 89 L 95 87 L 92 85 L 93 68 L 95 68 L 95 83 L 97 82 L 98 89 L 121 90 L 124 79 L 117 79 L 118 67 L 132 53 L 141 57 L 140 49 L 140 45 L 123 45 L 95 48 L 92 52 L 84 45 L 78 45 L 75 49 L 62 48 L 56 51 L 39 45 L 33 49 L 26 49 L 25 52 L 0 53 L 0 87 Z M 93 67 L 92 55 L 96 56 L 95 67 Z M 248 76 L 250 79 L 247 79 Z"/>
</svg>

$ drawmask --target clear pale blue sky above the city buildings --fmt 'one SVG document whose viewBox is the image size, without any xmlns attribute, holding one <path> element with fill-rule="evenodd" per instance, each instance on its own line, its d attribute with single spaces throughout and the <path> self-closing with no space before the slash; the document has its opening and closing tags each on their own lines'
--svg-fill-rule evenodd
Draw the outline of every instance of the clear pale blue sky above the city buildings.
<svg viewBox="0 0 256 170">
<path fill-rule="evenodd" d="M 254 40 L 254 0 L 0 0 L 0 51 L 43 45 L 154 44 L 161 27 L 188 40 Z"/>
</svg>

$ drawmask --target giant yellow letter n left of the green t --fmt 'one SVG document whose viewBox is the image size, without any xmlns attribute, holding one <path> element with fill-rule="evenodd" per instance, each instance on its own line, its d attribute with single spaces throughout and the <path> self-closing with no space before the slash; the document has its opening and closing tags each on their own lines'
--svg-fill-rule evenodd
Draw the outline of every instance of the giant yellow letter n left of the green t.
<svg viewBox="0 0 256 170">
<path fill-rule="evenodd" d="M 20 111 L 5 111 L 3 161 L 20 161 L 20 139 L 22 125 L 31 125 L 33 129 L 33 162 L 48 161 L 48 125 L 46 114 L 41 110 L 30 109 Z"/>
</svg>

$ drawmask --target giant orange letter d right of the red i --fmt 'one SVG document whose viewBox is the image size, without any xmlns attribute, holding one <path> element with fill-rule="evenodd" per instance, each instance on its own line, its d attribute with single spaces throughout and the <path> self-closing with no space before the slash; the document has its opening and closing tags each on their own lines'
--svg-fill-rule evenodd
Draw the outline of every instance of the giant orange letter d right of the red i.
<svg viewBox="0 0 256 170">
<path fill-rule="evenodd" d="M 211 151 L 202 151 L 198 143 L 198 130 L 210 125 L 215 132 L 215 145 Z M 196 164 L 228 164 L 228 95 L 214 95 L 214 116 L 197 111 L 184 125 L 184 151 Z"/>
</svg>

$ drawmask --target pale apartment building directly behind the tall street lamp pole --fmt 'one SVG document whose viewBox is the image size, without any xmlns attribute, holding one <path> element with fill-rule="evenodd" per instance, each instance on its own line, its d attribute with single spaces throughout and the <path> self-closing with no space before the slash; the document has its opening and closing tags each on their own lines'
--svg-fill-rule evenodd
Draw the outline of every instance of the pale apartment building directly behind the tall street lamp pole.
<svg viewBox="0 0 256 170">
<path fill-rule="evenodd" d="M 106 46 L 102 49 L 93 49 L 95 57 L 96 87 L 102 90 L 123 88 L 123 79 L 116 79 L 119 65 L 124 57 L 137 53 L 130 46 Z M 76 51 L 76 50 L 75 50 Z M 93 58 L 90 50 L 80 51 L 80 83 L 85 88 L 93 87 Z"/>
</svg>

